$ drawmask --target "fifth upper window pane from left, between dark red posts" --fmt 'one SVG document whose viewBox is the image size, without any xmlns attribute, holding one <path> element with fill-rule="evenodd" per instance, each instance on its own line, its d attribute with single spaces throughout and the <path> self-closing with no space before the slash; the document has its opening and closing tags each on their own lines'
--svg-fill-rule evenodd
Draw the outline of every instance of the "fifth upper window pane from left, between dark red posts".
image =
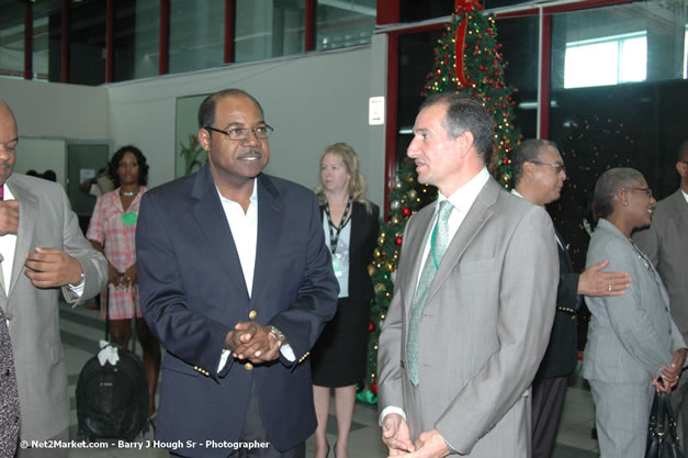
<svg viewBox="0 0 688 458">
<path fill-rule="evenodd" d="M 170 10 L 170 72 L 222 65 L 225 49 L 224 0 L 171 0 Z"/>
</svg>

